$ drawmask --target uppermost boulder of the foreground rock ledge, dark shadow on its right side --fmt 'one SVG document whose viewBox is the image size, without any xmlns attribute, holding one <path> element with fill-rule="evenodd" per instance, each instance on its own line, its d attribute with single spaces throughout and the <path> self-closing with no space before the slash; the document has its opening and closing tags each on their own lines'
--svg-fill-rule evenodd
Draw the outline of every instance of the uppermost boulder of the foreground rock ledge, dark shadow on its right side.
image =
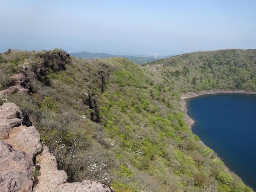
<svg viewBox="0 0 256 192">
<path fill-rule="evenodd" d="M 0 107 L 0 140 L 7 139 L 9 131 L 20 125 L 31 126 L 29 117 L 16 104 L 4 103 Z"/>
</svg>

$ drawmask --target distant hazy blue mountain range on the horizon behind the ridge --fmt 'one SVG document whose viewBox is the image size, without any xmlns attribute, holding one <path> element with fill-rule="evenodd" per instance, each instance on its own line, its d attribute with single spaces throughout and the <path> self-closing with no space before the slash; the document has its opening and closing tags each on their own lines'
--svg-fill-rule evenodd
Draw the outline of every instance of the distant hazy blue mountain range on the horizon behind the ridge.
<svg viewBox="0 0 256 192">
<path fill-rule="evenodd" d="M 71 56 L 82 58 L 82 59 L 99 59 L 99 58 L 111 58 L 111 57 L 123 57 L 123 58 L 128 58 L 137 64 L 145 64 L 153 61 L 157 61 L 163 58 L 168 58 L 173 55 L 158 55 L 158 56 L 149 56 L 149 55 L 111 55 L 107 53 L 92 53 L 92 52 L 74 52 L 70 53 Z"/>
</svg>

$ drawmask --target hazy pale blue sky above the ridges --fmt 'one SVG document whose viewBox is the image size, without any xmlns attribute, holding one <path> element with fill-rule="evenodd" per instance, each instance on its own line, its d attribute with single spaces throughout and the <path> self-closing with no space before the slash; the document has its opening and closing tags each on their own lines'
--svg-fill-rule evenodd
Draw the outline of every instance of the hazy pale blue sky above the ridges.
<svg viewBox="0 0 256 192">
<path fill-rule="evenodd" d="M 0 52 L 256 48 L 255 0 L 1 0 L 0 6 Z"/>
</svg>

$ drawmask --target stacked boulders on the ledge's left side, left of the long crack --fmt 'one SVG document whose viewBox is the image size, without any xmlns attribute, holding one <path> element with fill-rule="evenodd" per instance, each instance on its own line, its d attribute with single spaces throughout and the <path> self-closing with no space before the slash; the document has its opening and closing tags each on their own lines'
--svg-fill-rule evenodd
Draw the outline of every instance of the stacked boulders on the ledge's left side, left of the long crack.
<svg viewBox="0 0 256 192">
<path fill-rule="evenodd" d="M 40 134 L 14 103 L 0 107 L 0 191 L 32 191 Z"/>
</svg>

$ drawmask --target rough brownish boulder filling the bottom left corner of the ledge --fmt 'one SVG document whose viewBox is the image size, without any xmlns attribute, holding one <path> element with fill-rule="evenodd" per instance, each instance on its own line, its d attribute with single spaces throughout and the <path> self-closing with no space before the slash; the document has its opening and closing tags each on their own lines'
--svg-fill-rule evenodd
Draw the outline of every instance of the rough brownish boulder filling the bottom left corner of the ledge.
<svg viewBox="0 0 256 192">
<path fill-rule="evenodd" d="M 0 191 L 31 192 L 34 183 L 34 164 L 30 155 L 14 150 L 0 141 Z"/>
</svg>

